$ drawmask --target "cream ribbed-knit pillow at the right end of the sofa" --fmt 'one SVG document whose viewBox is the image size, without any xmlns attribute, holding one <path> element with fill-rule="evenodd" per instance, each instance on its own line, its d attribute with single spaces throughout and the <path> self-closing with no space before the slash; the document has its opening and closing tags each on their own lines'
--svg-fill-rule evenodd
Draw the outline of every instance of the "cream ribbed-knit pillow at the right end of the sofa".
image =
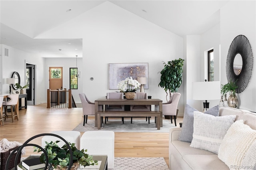
<svg viewBox="0 0 256 170">
<path fill-rule="evenodd" d="M 236 121 L 220 144 L 218 158 L 230 169 L 242 169 L 242 161 L 255 141 L 256 130 L 244 125 L 243 120 Z"/>
</svg>

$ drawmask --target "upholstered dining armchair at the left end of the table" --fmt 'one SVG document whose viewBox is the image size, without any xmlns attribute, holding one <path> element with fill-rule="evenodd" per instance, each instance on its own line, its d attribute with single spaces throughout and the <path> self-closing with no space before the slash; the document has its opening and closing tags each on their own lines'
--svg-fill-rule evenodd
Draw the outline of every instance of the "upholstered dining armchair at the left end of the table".
<svg viewBox="0 0 256 170">
<path fill-rule="evenodd" d="M 83 107 L 84 123 L 87 123 L 88 115 L 95 115 L 95 103 L 90 102 L 84 93 L 79 93 L 79 97 Z M 102 111 L 102 106 L 99 106 L 99 111 Z"/>
</svg>

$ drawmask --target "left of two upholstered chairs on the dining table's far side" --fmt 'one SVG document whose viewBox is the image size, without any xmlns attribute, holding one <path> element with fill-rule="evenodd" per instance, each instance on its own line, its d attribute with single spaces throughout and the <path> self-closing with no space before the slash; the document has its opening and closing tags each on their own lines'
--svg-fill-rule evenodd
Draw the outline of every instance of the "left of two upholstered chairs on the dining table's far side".
<svg viewBox="0 0 256 170">
<path fill-rule="evenodd" d="M 110 92 L 107 93 L 107 99 L 124 99 L 124 93 Z M 105 111 L 124 111 L 124 105 L 106 105 Z M 108 121 L 108 117 L 105 117 L 105 123 Z M 124 117 L 122 117 L 124 123 Z"/>
</svg>

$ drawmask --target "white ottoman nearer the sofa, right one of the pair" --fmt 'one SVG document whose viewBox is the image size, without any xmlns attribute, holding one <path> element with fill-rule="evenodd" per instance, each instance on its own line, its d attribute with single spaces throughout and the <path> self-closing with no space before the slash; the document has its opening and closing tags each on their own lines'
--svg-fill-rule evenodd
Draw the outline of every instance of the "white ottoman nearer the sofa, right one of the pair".
<svg viewBox="0 0 256 170">
<path fill-rule="evenodd" d="M 87 131 L 81 136 L 80 150 L 87 149 L 87 154 L 108 155 L 108 169 L 114 168 L 114 143 L 113 131 Z"/>
</svg>

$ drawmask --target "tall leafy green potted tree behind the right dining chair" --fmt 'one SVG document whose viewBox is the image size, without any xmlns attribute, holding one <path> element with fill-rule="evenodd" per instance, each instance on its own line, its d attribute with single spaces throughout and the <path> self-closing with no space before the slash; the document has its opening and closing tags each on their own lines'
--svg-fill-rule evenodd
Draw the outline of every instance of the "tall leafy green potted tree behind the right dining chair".
<svg viewBox="0 0 256 170">
<path fill-rule="evenodd" d="M 183 62 L 184 59 L 181 58 L 168 61 L 167 63 L 164 62 L 164 69 L 158 72 L 161 73 L 160 83 L 158 84 L 158 87 L 162 87 L 166 92 L 166 101 L 168 101 L 168 92 L 169 97 L 171 98 L 172 93 L 178 92 L 178 89 L 182 83 Z M 178 115 L 178 109 L 176 115 Z M 170 119 L 170 116 L 165 116 L 165 118 Z"/>
</svg>

